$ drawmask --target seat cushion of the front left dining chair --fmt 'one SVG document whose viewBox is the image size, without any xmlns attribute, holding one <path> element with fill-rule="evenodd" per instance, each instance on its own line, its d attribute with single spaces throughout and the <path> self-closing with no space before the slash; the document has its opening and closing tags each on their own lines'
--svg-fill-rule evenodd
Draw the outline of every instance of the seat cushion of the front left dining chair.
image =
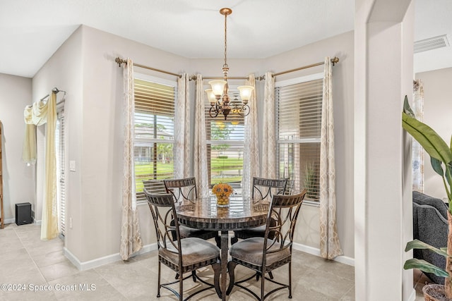
<svg viewBox="0 0 452 301">
<path fill-rule="evenodd" d="M 174 242 L 177 244 L 177 241 Z M 216 245 L 207 242 L 201 238 L 184 238 L 181 240 L 182 249 L 182 265 L 191 266 L 198 262 L 205 262 L 220 256 L 220 249 Z M 158 250 L 158 254 L 172 262 L 174 265 L 179 264 L 177 250 L 167 242 L 167 248 Z"/>
</svg>

